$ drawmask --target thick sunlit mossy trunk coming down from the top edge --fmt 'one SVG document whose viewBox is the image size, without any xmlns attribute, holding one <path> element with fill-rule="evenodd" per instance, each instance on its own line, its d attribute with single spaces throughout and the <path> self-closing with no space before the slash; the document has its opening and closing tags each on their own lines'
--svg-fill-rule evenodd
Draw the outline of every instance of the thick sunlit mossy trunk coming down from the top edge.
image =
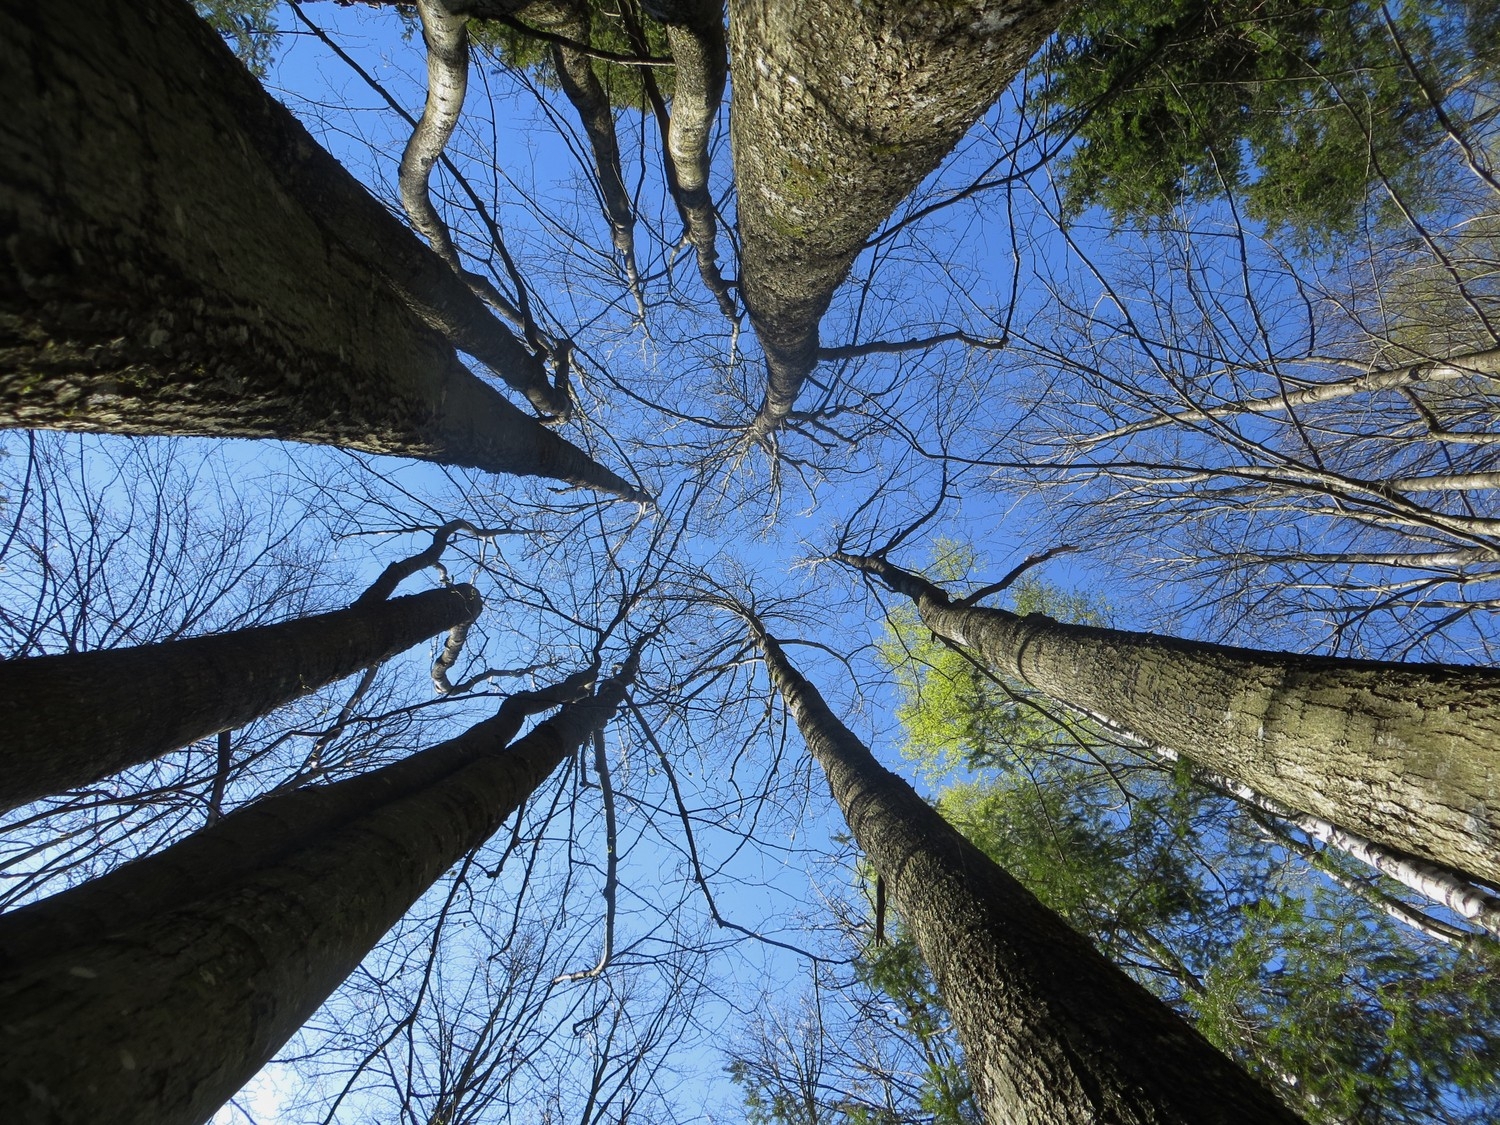
<svg viewBox="0 0 1500 1125">
<path fill-rule="evenodd" d="M 818 363 L 818 321 L 874 228 L 938 166 L 1072 0 L 730 0 L 740 291 L 770 435 Z"/>
</svg>

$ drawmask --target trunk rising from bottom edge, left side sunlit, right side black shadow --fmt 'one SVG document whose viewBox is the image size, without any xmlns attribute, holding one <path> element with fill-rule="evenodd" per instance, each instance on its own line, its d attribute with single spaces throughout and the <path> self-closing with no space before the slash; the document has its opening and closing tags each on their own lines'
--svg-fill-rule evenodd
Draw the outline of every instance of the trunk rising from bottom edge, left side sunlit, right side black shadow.
<svg viewBox="0 0 1500 1125">
<path fill-rule="evenodd" d="M 986 1120 L 1298 1120 L 880 766 L 750 622 L 808 753 L 933 970 Z"/>
</svg>

